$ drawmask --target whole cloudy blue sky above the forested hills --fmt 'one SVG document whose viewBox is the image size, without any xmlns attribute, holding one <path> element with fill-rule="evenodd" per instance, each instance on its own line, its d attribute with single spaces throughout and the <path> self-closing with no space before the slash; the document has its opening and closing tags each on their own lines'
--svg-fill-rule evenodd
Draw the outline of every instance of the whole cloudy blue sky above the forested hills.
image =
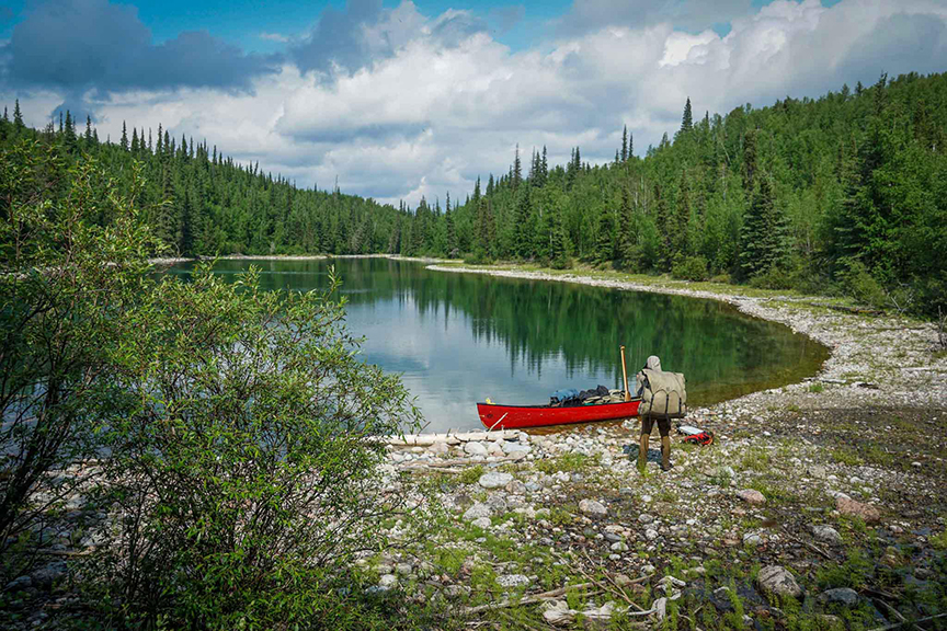
<svg viewBox="0 0 947 631">
<path fill-rule="evenodd" d="M 463 199 L 516 146 L 607 162 L 695 117 L 947 70 L 947 0 L 0 0 L 0 106 L 158 124 L 299 186 Z M 527 162 L 528 163 L 528 162 Z"/>
</svg>

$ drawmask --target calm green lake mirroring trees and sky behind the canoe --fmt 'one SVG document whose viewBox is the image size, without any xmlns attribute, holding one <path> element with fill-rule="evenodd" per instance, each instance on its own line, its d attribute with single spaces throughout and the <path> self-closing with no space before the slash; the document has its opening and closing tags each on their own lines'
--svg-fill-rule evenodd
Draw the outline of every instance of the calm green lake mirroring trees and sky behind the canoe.
<svg viewBox="0 0 947 631">
<path fill-rule="evenodd" d="M 255 265 L 266 289 L 307 291 L 334 265 L 364 360 L 402 375 L 427 432 L 481 427 L 475 403 L 547 403 L 560 388 L 619 388 L 648 355 L 684 372 L 692 408 L 814 375 L 828 349 L 712 300 L 571 283 L 431 272 L 387 259 L 220 261 L 236 279 Z M 191 264 L 172 267 L 187 274 Z"/>
</svg>

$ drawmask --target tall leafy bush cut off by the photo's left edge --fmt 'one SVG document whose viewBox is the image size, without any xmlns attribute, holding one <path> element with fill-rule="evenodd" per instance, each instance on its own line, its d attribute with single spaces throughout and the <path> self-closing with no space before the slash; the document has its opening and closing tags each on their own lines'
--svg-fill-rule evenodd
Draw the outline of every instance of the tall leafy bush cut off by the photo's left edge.
<svg viewBox="0 0 947 631">
<path fill-rule="evenodd" d="M 116 341 L 130 332 L 117 316 L 135 301 L 153 248 L 94 162 L 73 168 L 65 192 L 62 172 L 57 152 L 36 144 L 0 151 L 0 584 L 28 570 L 35 554 L 7 552 L 35 552 L 31 534 L 82 481 L 61 473 L 94 456 L 95 428 L 122 413 L 110 375 Z"/>
</svg>

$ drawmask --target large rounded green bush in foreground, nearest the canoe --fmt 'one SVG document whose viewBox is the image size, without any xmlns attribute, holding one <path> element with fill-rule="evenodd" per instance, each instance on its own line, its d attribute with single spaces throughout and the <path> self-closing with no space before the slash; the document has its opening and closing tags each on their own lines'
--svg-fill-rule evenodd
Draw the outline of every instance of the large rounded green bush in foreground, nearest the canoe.
<svg viewBox="0 0 947 631">
<path fill-rule="evenodd" d="M 94 561 L 126 623 L 323 620 L 354 555 L 386 546 L 406 494 L 386 491 L 376 438 L 420 416 L 358 359 L 338 286 L 266 292 L 252 269 L 229 285 L 204 265 L 126 313 L 139 405 L 111 426 L 101 500 L 121 520 Z"/>
</svg>

